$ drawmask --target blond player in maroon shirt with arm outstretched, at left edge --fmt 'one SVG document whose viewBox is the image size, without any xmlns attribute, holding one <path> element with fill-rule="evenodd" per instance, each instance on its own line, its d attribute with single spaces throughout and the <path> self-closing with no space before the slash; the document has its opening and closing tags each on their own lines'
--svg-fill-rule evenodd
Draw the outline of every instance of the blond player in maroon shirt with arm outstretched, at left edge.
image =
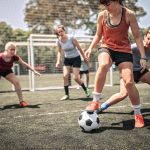
<svg viewBox="0 0 150 150">
<path fill-rule="evenodd" d="M 23 61 L 20 56 L 16 54 L 16 45 L 13 42 L 6 43 L 5 51 L 0 53 L 0 76 L 4 77 L 14 85 L 15 91 L 19 98 L 20 106 L 25 107 L 28 104 L 23 100 L 20 82 L 11 69 L 14 62 L 20 63 L 24 67 L 33 71 L 36 75 L 40 75 L 40 73 L 33 69 L 29 64 Z"/>
</svg>

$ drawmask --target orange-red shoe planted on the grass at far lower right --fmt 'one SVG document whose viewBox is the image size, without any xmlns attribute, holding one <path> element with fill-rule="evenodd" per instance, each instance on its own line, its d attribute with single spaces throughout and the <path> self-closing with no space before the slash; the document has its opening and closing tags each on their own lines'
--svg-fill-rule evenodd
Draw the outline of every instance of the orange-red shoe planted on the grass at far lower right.
<svg viewBox="0 0 150 150">
<path fill-rule="evenodd" d="M 135 115 L 135 128 L 142 128 L 144 127 L 144 119 L 143 116 L 140 114 Z"/>
</svg>

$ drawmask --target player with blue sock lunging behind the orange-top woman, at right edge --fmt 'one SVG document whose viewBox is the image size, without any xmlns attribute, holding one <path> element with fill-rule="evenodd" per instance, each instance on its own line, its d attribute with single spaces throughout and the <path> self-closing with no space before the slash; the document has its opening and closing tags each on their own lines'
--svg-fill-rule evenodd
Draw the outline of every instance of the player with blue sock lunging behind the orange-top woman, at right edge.
<svg viewBox="0 0 150 150">
<path fill-rule="evenodd" d="M 144 50 L 146 54 L 146 60 L 150 60 L 150 31 L 144 36 L 143 40 Z M 132 52 L 133 52 L 133 75 L 134 81 L 138 83 L 139 81 L 143 83 L 147 83 L 150 85 L 150 71 L 147 68 L 141 68 L 140 65 L 140 53 L 137 45 L 132 44 Z M 124 100 L 128 96 L 127 89 L 125 88 L 125 83 L 123 79 L 120 79 L 120 92 L 112 95 L 105 103 L 101 105 L 101 108 L 96 112 L 101 113 L 103 110 L 108 107 Z"/>
</svg>

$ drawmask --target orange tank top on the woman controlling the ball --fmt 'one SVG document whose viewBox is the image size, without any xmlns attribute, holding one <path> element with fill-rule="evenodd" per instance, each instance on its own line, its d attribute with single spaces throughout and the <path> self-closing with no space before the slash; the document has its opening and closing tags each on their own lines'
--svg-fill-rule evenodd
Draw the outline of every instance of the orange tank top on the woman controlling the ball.
<svg viewBox="0 0 150 150">
<path fill-rule="evenodd" d="M 132 53 L 128 38 L 129 25 L 125 19 L 125 8 L 122 8 L 121 21 L 118 25 L 111 25 L 109 14 L 104 12 L 103 35 L 101 47 L 110 48 L 114 51 Z"/>
</svg>

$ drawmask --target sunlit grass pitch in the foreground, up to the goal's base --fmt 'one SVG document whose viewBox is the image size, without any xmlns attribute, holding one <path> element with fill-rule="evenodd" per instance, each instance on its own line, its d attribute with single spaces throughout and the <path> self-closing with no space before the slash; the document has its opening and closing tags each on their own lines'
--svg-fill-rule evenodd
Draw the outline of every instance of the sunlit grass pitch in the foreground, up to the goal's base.
<svg viewBox="0 0 150 150">
<path fill-rule="evenodd" d="M 115 78 L 113 87 L 104 87 L 101 102 L 119 90 L 118 76 Z M 26 108 L 19 107 L 15 92 L 0 93 L 0 150 L 148 150 L 150 88 L 146 84 L 136 86 L 145 127 L 134 129 L 127 98 L 100 114 L 100 128 L 92 133 L 82 132 L 77 123 L 81 111 L 92 99 L 86 98 L 82 89 L 70 89 L 71 100 L 66 101 L 59 100 L 63 90 L 24 91 L 29 103 Z"/>
</svg>

